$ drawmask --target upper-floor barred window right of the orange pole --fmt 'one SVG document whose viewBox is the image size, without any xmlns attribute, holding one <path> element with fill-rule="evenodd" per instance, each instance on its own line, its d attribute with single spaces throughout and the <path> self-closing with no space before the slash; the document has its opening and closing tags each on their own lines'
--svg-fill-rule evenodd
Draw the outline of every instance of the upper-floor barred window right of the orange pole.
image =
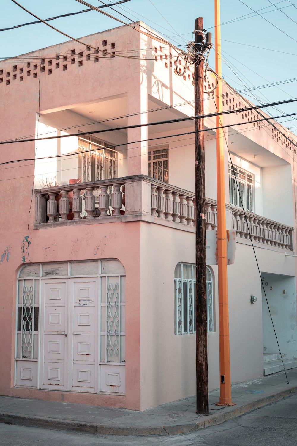
<svg viewBox="0 0 297 446">
<path fill-rule="evenodd" d="M 254 209 L 254 175 L 240 167 L 229 163 L 229 198 L 232 206 L 244 208 L 245 211 L 255 212 Z M 235 173 L 235 175 L 234 175 Z M 236 181 L 238 188 L 236 186 Z M 239 190 L 240 193 L 239 193 Z M 241 197 L 241 200 L 240 200 Z M 242 204 L 241 204 L 242 202 Z M 243 205 L 243 206 L 242 206 Z"/>
</svg>

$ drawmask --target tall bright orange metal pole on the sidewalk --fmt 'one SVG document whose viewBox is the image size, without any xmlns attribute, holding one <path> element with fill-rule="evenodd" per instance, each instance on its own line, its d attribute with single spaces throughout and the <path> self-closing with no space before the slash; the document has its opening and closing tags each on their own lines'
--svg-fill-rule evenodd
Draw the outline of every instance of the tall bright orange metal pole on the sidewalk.
<svg viewBox="0 0 297 446">
<path fill-rule="evenodd" d="M 223 111 L 220 0 L 215 0 L 215 51 L 216 73 L 219 76 L 216 89 L 216 108 Z M 223 125 L 223 116 L 216 116 L 216 127 Z M 228 316 L 227 236 L 224 175 L 224 133 L 216 130 L 216 174 L 218 201 L 218 273 L 219 273 L 219 343 L 220 343 L 220 405 L 232 405 Z"/>
</svg>

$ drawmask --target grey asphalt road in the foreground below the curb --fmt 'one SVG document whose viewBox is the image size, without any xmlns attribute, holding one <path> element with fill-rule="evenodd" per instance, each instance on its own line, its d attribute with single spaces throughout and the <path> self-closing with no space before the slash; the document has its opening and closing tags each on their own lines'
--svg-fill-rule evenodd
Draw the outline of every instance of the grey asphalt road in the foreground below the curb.
<svg viewBox="0 0 297 446">
<path fill-rule="evenodd" d="M 184 435 L 114 436 L 0 424 L 1 446 L 296 446 L 297 395 Z"/>
</svg>

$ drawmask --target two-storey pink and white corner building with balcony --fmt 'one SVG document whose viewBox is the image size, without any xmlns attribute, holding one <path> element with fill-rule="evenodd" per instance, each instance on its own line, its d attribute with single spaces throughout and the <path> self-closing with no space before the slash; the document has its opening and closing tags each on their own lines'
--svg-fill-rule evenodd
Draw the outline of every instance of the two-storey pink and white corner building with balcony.
<svg viewBox="0 0 297 446">
<path fill-rule="evenodd" d="M 177 75 L 175 49 L 128 26 L 81 41 L 1 62 L 1 140 L 24 141 L 1 146 L 2 163 L 20 161 L 1 166 L 0 393 L 142 410 L 195 393 L 194 136 L 180 135 L 194 125 L 131 126 L 193 116 L 193 70 Z M 205 83 L 206 113 L 215 110 L 214 82 Z M 250 105 L 226 83 L 223 91 L 225 110 Z M 279 362 L 235 178 L 281 353 L 287 367 L 297 365 L 296 143 L 262 116 L 224 118 L 245 123 L 226 130 L 235 166 L 226 147 L 227 227 L 236 231 L 232 382 Z M 214 231 L 213 118 L 205 127 Z M 207 259 L 213 389 L 217 267 Z"/>
</svg>

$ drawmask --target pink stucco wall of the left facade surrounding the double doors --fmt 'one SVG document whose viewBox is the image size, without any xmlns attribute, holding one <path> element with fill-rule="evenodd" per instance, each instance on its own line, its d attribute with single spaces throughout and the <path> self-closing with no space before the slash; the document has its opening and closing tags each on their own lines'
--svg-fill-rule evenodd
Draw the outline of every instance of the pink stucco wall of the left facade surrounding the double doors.
<svg viewBox="0 0 297 446">
<path fill-rule="evenodd" d="M 132 31 L 132 32 L 131 32 Z M 107 41 L 107 50 L 115 42 L 116 50 L 126 50 L 139 46 L 139 34 L 133 30 L 118 28 L 85 38 L 86 44 L 102 49 L 102 41 Z M 70 50 L 75 49 L 75 63 L 70 62 Z M 139 61 L 122 58 L 99 58 L 94 62 L 83 60 L 78 66 L 77 53 L 85 48 L 73 42 L 31 53 L 26 60 L 11 61 L 10 84 L 1 84 L 0 111 L 1 140 L 35 136 L 36 114 L 39 111 L 61 109 L 77 103 L 86 103 L 114 95 L 133 95 L 139 89 Z M 92 51 L 93 52 L 93 51 Z M 61 58 L 67 54 L 67 62 L 60 59 L 60 68 L 55 68 L 55 54 Z M 96 55 L 96 54 L 95 54 Z M 101 54 L 98 54 L 101 56 Z M 28 55 L 27 55 L 28 56 Z M 52 57 L 50 57 L 52 56 Z M 45 57 L 45 71 L 40 73 L 40 58 Z M 48 60 L 52 60 L 52 74 L 48 74 Z M 62 70 L 67 63 L 67 70 Z M 17 64 L 16 71 L 12 66 Z M 37 64 L 37 69 L 34 69 Z M 20 74 L 23 68 L 23 74 Z M 30 75 L 27 76 L 27 71 Z M 37 77 L 33 77 L 33 72 Z M 130 82 L 126 81 L 129 72 Z M 136 74 L 135 74 L 136 73 Z M 12 75 L 17 78 L 13 79 Z M 23 81 L 20 81 L 23 75 Z M 40 81 L 39 81 L 40 75 Z M 39 96 L 40 90 L 40 96 Z M 121 111 L 118 111 L 121 114 Z M 132 138 L 135 135 L 132 134 Z M 26 142 L 3 145 L 1 161 L 34 158 L 36 143 Z M 135 149 L 137 150 L 137 149 Z M 134 161 L 131 169 L 138 169 Z M 108 405 L 140 408 L 140 327 L 139 327 L 139 239 L 140 223 L 113 223 L 85 225 L 81 227 L 59 227 L 33 230 L 35 198 L 33 196 L 34 163 L 24 161 L 7 165 L 1 170 L 1 254 L 5 254 L 0 264 L 1 295 L 1 362 L 0 393 L 21 397 L 45 398 L 58 401 L 80 402 L 93 405 Z M 25 240 L 29 234 L 30 245 Z M 6 251 L 5 251 L 6 250 Z M 126 395 L 91 395 L 70 392 L 51 392 L 13 387 L 13 363 L 15 343 L 16 274 L 20 266 L 31 262 L 52 262 L 117 258 L 126 269 Z"/>
</svg>

